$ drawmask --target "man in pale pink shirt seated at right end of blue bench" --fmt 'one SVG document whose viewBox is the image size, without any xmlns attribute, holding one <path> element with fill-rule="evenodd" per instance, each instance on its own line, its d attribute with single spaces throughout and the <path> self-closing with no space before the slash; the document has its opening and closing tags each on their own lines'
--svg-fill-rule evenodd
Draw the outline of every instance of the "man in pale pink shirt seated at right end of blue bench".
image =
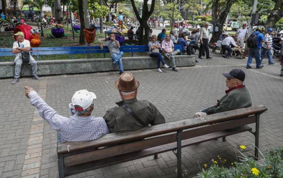
<svg viewBox="0 0 283 178">
<path fill-rule="evenodd" d="M 172 40 L 170 40 L 169 34 L 166 35 L 165 40 L 162 41 L 161 46 L 164 56 L 167 59 L 171 60 L 172 70 L 178 72 L 175 64 L 175 55 L 179 54 L 180 50 L 177 49 L 176 51 L 174 51 L 174 43 Z"/>
</svg>

